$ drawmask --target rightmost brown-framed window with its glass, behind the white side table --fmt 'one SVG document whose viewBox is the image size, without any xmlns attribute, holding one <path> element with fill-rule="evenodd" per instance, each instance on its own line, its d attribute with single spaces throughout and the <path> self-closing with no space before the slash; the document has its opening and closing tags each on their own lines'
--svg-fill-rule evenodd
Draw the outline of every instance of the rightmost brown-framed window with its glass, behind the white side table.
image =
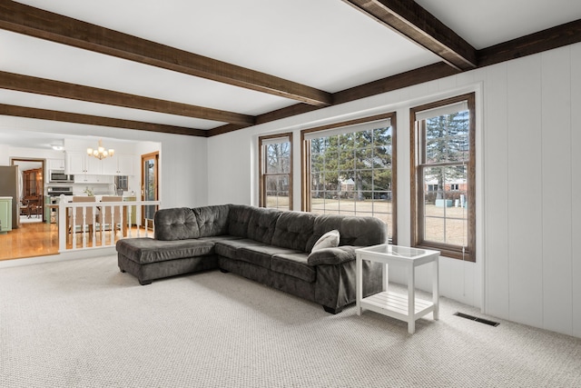
<svg viewBox="0 0 581 388">
<path fill-rule="evenodd" d="M 411 109 L 412 245 L 476 261 L 474 94 Z"/>
</svg>

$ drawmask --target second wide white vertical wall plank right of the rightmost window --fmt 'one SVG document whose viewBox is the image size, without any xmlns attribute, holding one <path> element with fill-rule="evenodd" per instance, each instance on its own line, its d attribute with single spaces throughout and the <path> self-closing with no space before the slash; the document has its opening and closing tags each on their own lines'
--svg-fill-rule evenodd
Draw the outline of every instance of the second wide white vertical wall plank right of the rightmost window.
<svg viewBox="0 0 581 388">
<path fill-rule="evenodd" d="M 509 319 L 537 327 L 543 322 L 540 80 L 540 55 L 507 64 Z"/>
</svg>

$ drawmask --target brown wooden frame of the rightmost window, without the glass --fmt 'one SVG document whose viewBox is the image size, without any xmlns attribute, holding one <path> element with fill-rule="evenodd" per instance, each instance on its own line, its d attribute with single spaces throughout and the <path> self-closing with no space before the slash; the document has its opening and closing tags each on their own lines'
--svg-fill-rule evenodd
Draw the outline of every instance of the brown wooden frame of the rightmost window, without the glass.
<svg viewBox="0 0 581 388">
<path fill-rule="evenodd" d="M 455 244 L 442 244 L 438 242 L 426 241 L 424 238 L 423 223 L 424 207 L 423 187 L 425 182 L 421 176 L 426 165 L 420 164 L 425 149 L 425 120 L 416 121 L 416 114 L 429 109 L 438 108 L 448 104 L 455 104 L 466 101 L 468 103 L 468 172 L 467 172 L 467 244 L 459 246 Z M 444 100 L 435 101 L 429 104 L 415 106 L 409 109 L 409 148 L 410 148 L 410 211 L 411 211 L 411 246 L 417 248 L 434 249 L 441 252 L 443 256 L 454 259 L 476 262 L 476 94 L 458 95 Z M 422 147 L 420 149 L 420 146 Z M 436 164 L 442 166 L 442 164 Z"/>
</svg>

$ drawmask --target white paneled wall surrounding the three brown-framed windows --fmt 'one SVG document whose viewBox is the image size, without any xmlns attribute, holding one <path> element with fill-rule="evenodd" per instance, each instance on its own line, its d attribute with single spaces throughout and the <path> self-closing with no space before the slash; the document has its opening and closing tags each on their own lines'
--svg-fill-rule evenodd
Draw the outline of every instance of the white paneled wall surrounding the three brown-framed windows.
<svg viewBox="0 0 581 388">
<path fill-rule="evenodd" d="M 213 136 L 209 203 L 256 204 L 260 134 L 292 131 L 297 140 L 306 127 L 396 111 L 399 244 L 409 244 L 409 107 L 469 91 L 477 92 L 477 264 L 442 258 L 441 293 L 581 337 L 581 248 L 574 244 L 581 232 L 581 44 Z M 397 271 L 390 276 L 401 280 Z M 425 271 L 419 283 L 429 289 Z"/>
</svg>

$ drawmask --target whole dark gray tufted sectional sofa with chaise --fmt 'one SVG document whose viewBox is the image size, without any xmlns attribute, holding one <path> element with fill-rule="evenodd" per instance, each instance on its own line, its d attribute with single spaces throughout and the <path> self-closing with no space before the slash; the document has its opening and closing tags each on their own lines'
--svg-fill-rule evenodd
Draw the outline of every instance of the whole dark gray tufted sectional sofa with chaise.
<svg viewBox="0 0 581 388">
<path fill-rule="evenodd" d="M 386 242 L 386 224 L 373 217 L 223 204 L 159 210 L 153 238 L 126 238 L 116 250 L 121 271 L 140 284 L 219 268 L 339 313 L 355 302 L 355 249 Z M 379 264 L 364 262 L 363 276 L 364 295 L 381 291 Z"/>
</svg>

